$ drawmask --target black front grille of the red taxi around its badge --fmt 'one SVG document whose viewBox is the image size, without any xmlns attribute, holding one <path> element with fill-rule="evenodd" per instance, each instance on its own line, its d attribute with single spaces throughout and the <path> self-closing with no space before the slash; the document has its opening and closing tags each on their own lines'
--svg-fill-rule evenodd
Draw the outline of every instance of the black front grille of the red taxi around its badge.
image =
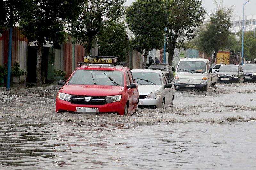
<svg viewBox="0 0 256 170">
<path fill-rule="evenodd" d="M 81 104 L 81 105 L 104 105 L 106 104 L 105 96 L 86 96 L 92 97 L 89 102 L 84 100 L 85 96 L 72 95 L 70 103 Z"/>
</svg>

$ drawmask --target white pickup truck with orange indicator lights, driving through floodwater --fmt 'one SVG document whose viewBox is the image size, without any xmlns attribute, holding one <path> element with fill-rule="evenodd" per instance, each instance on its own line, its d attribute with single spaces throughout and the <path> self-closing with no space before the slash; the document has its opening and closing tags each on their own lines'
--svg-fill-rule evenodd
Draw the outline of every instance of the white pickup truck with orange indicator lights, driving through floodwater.
<svg viewBox="0 0 256 170">
<path fill-rule="evenodd" d="M 175 90 L 204 90 L 218 83 L 218 76 L 212 73 L 208 59 L 180 59 L 174 78 Z"/>
</svg>

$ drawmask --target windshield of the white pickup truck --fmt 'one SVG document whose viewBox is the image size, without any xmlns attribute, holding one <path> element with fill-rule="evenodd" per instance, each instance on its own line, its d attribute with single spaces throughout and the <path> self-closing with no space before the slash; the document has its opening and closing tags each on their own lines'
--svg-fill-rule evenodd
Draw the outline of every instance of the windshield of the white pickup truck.
<svg viewBox="0 0 256 170">
<path fill-rule="evenodd" d="M 204 73 L 206 71 L 206 63 L 203 61 L 180 61 L 177 71 Z"/>
</svg>

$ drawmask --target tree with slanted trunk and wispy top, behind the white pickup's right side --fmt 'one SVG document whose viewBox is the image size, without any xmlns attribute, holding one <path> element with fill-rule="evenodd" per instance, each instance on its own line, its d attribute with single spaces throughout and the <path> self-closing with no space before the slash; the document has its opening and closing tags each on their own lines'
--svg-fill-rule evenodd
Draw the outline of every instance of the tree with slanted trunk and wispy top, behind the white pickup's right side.
<svg viewBox="0 0 256 170">
<path fill-rule="evenodd" d="M 231 35 L 231 15 L 233 6 L 226 8 L 223 3 L 218 4 L 215 0 L 217 10 L 210 16 L 210 22 L 199 33 L 199 49 L 206 54 L 214 55 L 211 64 L 215 62 L 216 55 L 221 48 L 228 46 L 228 36 Z"/>
</svg>

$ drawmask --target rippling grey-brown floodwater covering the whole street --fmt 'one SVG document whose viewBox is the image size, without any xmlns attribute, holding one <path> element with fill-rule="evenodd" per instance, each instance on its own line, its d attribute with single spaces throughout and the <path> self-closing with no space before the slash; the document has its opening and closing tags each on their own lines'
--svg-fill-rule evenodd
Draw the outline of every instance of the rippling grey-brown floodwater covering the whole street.
<svg viewBox="0 0 256 170">
<path fill-rule="evenodd" d="M 0 91 L 0 169 L 256 169 L 256 83 L 129 117 L 55 113 L 58 90 Z"/>
</svg>

